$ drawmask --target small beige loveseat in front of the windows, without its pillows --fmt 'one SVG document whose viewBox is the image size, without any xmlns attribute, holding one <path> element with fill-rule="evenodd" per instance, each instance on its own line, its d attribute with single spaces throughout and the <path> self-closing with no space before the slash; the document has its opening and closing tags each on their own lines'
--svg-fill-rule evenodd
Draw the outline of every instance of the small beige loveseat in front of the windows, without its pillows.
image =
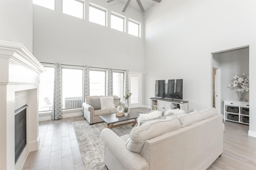
<svg viewBox="0 0 256 170">
<path fill-rule="evenodd" d="M 118 96 L 112 96 L 114 98 L 115 108 L 113 108 L 113 109 L 100 109 L 100 107 L 98 107 L 98 108 L 95 109 L 92 106 L 91 102 L 92 102 L 92 100 L 99 100 L 101 97 L 109 97 L 109 96 L 88 96 L 86 98 L 86 103 L 82 104 L 82 111 L 84 113 L 84 118 L 90 124 L 102 122 L 102 119 L 100 119 L 100 117 L 99 117 L 100 115 L 118 113 L 116 107 L 125 105 L 124 102 L 120 102 L 120 98 L 118 98 Z M 91 102 L 90 102 L 90 99 L 92 99 Z M 119 102 L 118 102 L 118 100 L 119 100 Z"/>
</svg>

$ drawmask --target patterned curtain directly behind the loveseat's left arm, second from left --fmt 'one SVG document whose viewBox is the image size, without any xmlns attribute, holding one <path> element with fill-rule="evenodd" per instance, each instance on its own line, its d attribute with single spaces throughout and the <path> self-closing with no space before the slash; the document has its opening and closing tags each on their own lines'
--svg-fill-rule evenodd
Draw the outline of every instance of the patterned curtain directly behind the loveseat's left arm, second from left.
<svg viewBox="0 0 256 170">
<path fill-rule="evenodd" d="M 90 96 L 90 66 L 84 66 L 83 103 L 88 96 Z M 82 107 L 82 115 L 84 115 L 84 107 Z"/>
</svg>

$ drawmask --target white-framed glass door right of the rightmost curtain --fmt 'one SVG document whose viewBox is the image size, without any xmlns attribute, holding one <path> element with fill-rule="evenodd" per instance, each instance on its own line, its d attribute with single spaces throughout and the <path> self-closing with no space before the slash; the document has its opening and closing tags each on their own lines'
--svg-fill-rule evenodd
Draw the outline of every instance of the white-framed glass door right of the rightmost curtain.
<svg viewBox="0 0 256 170">
<path fill-rule="evenodd" d="M 141 107 L 141 73 L 129 73 L 130 108 Z"/>
</svg>

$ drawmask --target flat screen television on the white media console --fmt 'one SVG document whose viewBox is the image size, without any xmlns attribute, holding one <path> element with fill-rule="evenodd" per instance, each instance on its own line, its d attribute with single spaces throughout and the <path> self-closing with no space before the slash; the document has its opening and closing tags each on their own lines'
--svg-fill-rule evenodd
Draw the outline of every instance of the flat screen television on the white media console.
<svg viewBox="0 0 256 170">
<path fill-rule="evenodd" d="M 156 80 L 155 96 L 183 100 L 183 79 Z"/>
</svg>

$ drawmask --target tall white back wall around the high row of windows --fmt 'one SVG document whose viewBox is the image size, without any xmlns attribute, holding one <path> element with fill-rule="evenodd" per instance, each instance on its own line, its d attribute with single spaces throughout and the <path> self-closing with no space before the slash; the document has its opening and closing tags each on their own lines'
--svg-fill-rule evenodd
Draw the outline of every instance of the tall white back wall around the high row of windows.
<svg viewBox="0 0 256 170">
<path fill-rule="evenodd" d="M 108 9 L 108 27 L 88 21 L 89 1 L 85 2 L 85 20 L 62 14 L 61 1 L 56 10 L 34 5 L 33 55 L 46 63 L 89 65 L 102 68 L 144 71 L 144 37 L 136 37 L 110 28 L 113 10 L 143 23 L 143 14 L 133 8 L 121 11 L 124 4 L 90 0 Z M 142 35 L 143 33 L 142 24 Z"/>
</svg>

